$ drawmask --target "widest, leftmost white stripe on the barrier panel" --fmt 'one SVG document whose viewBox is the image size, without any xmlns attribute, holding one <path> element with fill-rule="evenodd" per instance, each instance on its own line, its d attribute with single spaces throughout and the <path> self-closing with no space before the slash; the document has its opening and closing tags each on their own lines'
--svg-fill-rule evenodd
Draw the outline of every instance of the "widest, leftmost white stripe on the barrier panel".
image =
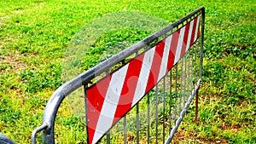
<svg viewBox="0 0 256 144">
<path fill-rule="evenodd" d="M 120 68 L 117 72 L 113 72 L 108 91 L 102 106 L 102 111 L 96 125 L 95 134 L 92 143 L 96 143 L 102 135 L 104 135 L 113 123 L 114 113 L 119 102 L 119 97 L 125 82 L 125 75 L 129 63 Z"/>
</svg>

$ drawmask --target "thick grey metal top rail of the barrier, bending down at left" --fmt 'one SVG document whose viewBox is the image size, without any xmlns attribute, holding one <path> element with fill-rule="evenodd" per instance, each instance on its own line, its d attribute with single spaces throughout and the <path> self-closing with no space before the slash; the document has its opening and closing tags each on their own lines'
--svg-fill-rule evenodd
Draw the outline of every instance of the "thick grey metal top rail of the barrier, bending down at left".
<svg viewBox="0 0 256 144">
<path fill-rule="evenodd" d="M 148 47 L 148 45 L 150 45 L 150 43 L 153 43 L 156 39 L 158 39 L 160 37 L 164 37 L 164 39 L 165 39 L 166 37 L 172 35 L 175 32 L 173 30 L 180 29 L 181 27 L 183 27 L 185 25 L 185 23 L 186 24 L 189 23 L 189 21 L 195 19 L 195 17 L 200 14 L 201 14 L 201 37 L 203 37 L 205 9 L 204 9 L 204 7 L 201 7 L 199 9 L 196 9 L 192 13 L 184 16 L 182 19 L 177 20 L 176 22 L 172 23 L 170 26 L 166 26 L 159 32 L 155 32 L 151 36 L 146 37 L 145 39 L 140 41 L 139 43 L 132 45 L 131 47 L 121 51 L 117 55 L 113 55 L 113 57 L 109 58 L 108 60 L 103 61 L 99 65 L 94 66 L 90 70 L 88 70 L 84 73 L 81 73 L 78 77 L 73 78 L 72 80 L 68 81 L 67 83 L 61 85 L 61 87 L 56 89 L 54 94 L 51 95 L 51 97 L 47 103 L 47 106 L 45 107 L 42 125 L 40 127 L 38 127 L 36 130 L 33 130 L 32 143 L 33 144 L 36 143 L 36 135 L 39 131 L 42 131 L 42 130 L 43 130 L 42 138 L 43 138 L 44 143 L 55 143 L 55 139 L 54 139 L 55 117 L 56 117 L 58 108 L 61 105 L 61 102 L 65 99 L 65 97 L 67 95 L 71 94 L 74 90 L 79 89 L 82 86 L 86 87 L 86 85 L 88 83 L 90 83 L 90 81 L 93 78 L 96 78 L 102 72 L 108 72 L 108 70 L 112 66 L 115 66 L 120 61 L 125 60 L 130 55 L 137 53 L 140 49 Z M 166 33 L 168 33 L 168 32 L 170 32 L 170 34 L 166 36 Z M 203 43 L 203 38 L 201 38 L 201 43 Z M 202 47 L 203 46 L 201 46 L 201 50 L 203 49 Z M 144 52 L 146 52 L 146 51 L 144 51 Z M 201 54 L 201 59 L 202 59 L 202 54 Z M 201 60 L 200 65 L 202 67 L 202 60 Z M 120 69 L 121 68 L 119 68 L 119 70 Z M 201 69 L 201 72 L 202 72 L 202 69 Z M 110 73 L 110 75 L 111 74 L 113 74 L 113 72 Z M 200 73 L 200 77 L 201 77 L 201 73 Z M 87 87 L 85 89 L 87 89 Z M 100 137 L 102 137 L 102 136 L 100 136 Z"/>
</svg>

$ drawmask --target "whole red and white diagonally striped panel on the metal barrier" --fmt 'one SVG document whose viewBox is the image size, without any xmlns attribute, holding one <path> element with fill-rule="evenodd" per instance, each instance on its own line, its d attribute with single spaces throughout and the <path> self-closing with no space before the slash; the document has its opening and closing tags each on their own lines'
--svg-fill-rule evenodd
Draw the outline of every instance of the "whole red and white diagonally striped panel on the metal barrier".
<svg viewBox="0 0 256 144">
<path fill-rule="evenodd" d="M 96 143 L 163 78 L 200 35 L 200 15 L 87 89 L 89 143 Z"/>
</svg>

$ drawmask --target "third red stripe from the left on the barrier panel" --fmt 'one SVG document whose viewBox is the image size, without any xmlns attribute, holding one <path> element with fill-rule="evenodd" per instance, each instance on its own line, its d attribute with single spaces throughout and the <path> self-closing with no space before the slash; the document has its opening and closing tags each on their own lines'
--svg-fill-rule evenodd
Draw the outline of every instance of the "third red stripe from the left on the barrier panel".
<svg viewBox="0 0 256 144">
<path fill-rule="evenodd" d="M 154 87 L 154 84 L 157 83 L 164 49 L 165 49 L 165 40 L 161 41 L 155 46 L 154 58 L 152 61 L 150 72 L 149 72 L 147 88 L 144 94 L 148 93 L 148 91 Z"/>
</svg>

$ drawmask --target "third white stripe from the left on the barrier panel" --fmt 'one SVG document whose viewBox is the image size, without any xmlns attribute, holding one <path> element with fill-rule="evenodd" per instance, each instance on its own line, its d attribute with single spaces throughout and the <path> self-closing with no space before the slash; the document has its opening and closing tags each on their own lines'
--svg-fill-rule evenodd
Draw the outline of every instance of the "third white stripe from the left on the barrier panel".
<svg viewBox="0 0 256 144">
<path fill-rule="evenodd" d="M 162 62 L 160 66 L 160 73 L 157 80 L 158 82 L 160 81 L 161 78 L 163 78 L 166 75 L 166 67 L 168 62 L 171 41 L 172 41 L 172 35 L 166 38 L 164 54 L 163 54 Z"/>
</svg>

